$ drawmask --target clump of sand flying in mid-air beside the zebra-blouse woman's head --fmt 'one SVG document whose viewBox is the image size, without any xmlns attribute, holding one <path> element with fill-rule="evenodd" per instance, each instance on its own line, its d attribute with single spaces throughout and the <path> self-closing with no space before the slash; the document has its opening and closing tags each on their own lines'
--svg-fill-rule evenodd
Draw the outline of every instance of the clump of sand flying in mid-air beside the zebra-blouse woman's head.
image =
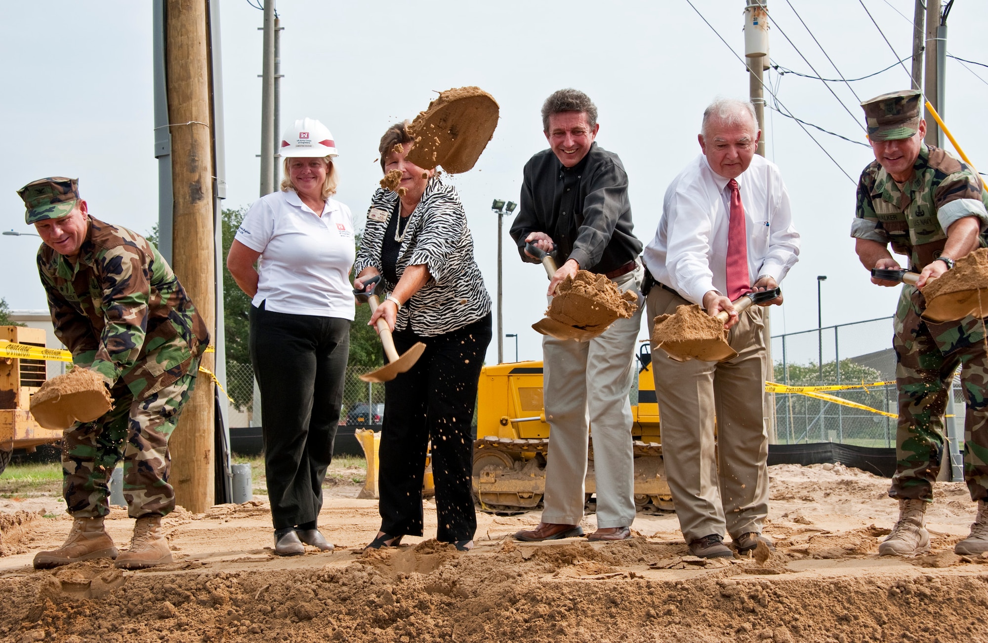
<svg viewBox="0 0 988 643">
<path fill-rule="evenodd" d="M 415 145 L 407 159 L 432 170 L 443 166 L 457 175 L 470 170 L 497 127 L 499 107 L 479 87 L 447 90 L 412 121 Z"/>
</svg>

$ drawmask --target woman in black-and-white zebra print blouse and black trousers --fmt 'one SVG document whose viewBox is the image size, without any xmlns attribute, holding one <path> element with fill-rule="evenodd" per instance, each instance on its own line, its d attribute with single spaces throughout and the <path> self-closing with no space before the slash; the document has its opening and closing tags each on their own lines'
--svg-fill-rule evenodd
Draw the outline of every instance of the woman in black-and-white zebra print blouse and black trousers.
<svg viewBox="0 0 988 643">
<path fill-rule="evenodd" d="M 407 121 L 392 125 L 380 139 L 381 170 L 401 172 L 400 187 L 374 192 L 354 264 L 355 288 L 381 275 L 388 292 L 371 325 L 383 318 L 399 353 L 418 341 L 426 344 L 410 371 L 384 385 L 381 526 L 368 547 L 422 536 L 422 476 L 431 439 L 437 538 L 466 550 L 477 526 L 470 425 L 491 340 L 491 299 L 473 260 L 473 239 L 456 190 L 434 170 L 406 161 L 413 144 Z"/>
</svg>

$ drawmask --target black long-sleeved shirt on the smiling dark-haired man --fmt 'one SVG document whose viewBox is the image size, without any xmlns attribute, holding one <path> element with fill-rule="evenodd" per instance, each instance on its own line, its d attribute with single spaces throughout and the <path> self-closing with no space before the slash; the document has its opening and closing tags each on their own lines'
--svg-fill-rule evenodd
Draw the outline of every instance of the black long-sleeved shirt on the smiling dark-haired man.
<svg viewBox="0 0 988 643">
<path fill-rule="evenodd" d="M 556 245 L 556 261 L 576 259 L 583 270 L 611 272 L 641 253 L 632 232 L 627 175 L 617 154 L 597 143 L 580 163 L 566 168 L 552 150 L 542 150 L 525 166 L 521 210 L 511 226 L 522 259 L 525 239 L 543 232 Z"/>
</svg>

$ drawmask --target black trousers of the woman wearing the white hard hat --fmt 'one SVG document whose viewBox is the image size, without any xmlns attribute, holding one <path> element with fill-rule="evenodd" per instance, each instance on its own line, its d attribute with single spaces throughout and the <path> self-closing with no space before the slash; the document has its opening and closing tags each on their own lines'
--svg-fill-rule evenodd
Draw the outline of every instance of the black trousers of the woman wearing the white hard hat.
<svg viewBox="0 0 988 643">
<path fill-rule="evenodd" d="M 350 321 L 250 309 L 250 360 L 261 390 L 268 497 L 275 529 L 314 523 L 333 459 Z"/>
</svg>

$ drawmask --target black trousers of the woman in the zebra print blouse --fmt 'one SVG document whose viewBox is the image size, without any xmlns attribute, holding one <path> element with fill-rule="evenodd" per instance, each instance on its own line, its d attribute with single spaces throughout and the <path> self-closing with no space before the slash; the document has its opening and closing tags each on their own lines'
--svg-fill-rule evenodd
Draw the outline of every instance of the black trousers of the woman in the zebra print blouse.
<svg viewBox="0 0 988 643">
<path fill-rule="evenodd" d="M 436 337 L 398 332 L 398 353 L 422 341 L 426 350 L 407 373 L 384 384 L 378 493 L 380 530 L 422 536 L 422 475 L 432 439 L 439 530 L 444 542 L 468 540 L 477 529 L 470 481 L 473 406 L 491 340 L 491 316 Z"/>
</svg>

